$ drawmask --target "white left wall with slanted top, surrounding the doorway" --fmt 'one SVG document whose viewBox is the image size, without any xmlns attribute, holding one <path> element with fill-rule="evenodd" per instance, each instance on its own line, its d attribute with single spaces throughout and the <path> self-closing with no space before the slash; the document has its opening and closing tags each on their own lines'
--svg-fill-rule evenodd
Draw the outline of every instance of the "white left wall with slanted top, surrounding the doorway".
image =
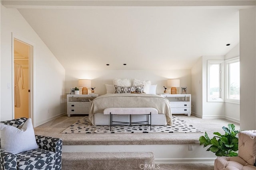
<svg viewBox="0 0 256 170">
<path fill-rule="evenodd" d="M 34 126 L 65 111 L 65 70 L 16 9 L 1 5 L 1 121 L 12 119 L 12 33 L 34 44 Z M 48 113 L 49 110 L 49 113 Z"/>
</svg>

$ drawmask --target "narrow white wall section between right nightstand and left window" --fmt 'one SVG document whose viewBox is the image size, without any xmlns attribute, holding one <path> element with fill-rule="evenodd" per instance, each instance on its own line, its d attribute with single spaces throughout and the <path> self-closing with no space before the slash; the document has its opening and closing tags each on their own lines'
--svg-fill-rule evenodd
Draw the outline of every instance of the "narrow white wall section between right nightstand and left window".
<svg viewBox="0 0 256 170">
<path fill-rule="evenodd" d="M 202 105 L 202 57 L 194 64 L 191 69 L 191 111 L 197 117 L 203 116 Z"/>
</svg>

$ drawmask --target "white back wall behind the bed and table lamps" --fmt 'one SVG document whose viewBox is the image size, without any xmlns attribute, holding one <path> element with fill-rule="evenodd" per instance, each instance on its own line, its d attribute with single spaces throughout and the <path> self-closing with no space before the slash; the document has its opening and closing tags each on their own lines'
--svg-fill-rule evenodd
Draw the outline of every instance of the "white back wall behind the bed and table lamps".
<svg viewBox="0 0 256 170">
<path fill-rule="evenodd" d="M 70 88 L 78 86 L 78 79 L 91 79 L 92 87 L 96 94 L 106 94 L 105 84 L 113 84 L 114 78 L 136 78 L 138 80 L 150 80 L 151 84 L 157 85 L 157 94 L 164 92 L 167 79 L 180 79 L 180 86 L 187 87 L 187 93 L 191 92 L 190 70 L 66 70 L 66 92 Z M 180 93 L 180 88 L 177 88 Z M 170 88 L 168 91 L 170 92 Z"/>
</svg>

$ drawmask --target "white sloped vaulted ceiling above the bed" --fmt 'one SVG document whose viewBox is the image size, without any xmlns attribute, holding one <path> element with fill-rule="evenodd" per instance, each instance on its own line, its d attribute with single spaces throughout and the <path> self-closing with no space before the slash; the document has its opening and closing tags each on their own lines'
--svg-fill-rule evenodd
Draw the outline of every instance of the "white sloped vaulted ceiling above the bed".
<svg viewBox="0 0 256 170">
<path fill-rule="evenodd" d="M 240 6 L 15 8 L 68 70 L 190 69 L 239 43 Z"/>
</svg>

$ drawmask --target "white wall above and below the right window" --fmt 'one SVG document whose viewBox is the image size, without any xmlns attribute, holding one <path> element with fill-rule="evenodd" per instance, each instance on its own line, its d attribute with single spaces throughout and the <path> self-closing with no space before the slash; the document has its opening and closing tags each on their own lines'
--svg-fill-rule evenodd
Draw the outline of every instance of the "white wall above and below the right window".
<svg viewBox="0 0 256 170">
<path fill-rule="evenodd" d="M 230 52 L 225 55 L 225 60 L 238 57 L 240 55 L 240 44 L 238 43 Z M 240 104 L 225 102 L 225 118 L 239 122 L 240 121 Z"/>
</svg>

